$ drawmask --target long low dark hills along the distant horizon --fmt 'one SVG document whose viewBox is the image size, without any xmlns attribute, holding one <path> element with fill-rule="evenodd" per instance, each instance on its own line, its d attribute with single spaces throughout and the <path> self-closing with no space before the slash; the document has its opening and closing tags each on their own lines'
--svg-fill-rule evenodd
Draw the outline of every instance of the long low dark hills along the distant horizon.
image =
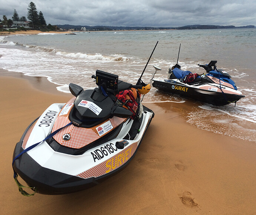
<svg viewBox="0 0 256 215">
<path fill-rule="evenodd" d="M 187 26 L 182 26 L 182 27 L 124 27 L 124 26 L 81 26 L 81 25 L 69 25 L 69 24 L 64 24 L 64 25 L 56 25 L 60 29 L 65 29 L 65 30 L 81 30 L 82 27 L 85 27 L 86 30 L 91 30 L 91 31 L 112 31 L 112 30 L 191 30 L 191 29 L 236 29 L 236 28 L 255 28 L 253 25 L 248 25 L 248 26 L 240 26 L 240 27 L 235 27 L 233 25 L 231 26 L 219 26 L 219 25 L 187 25 Z"/>
</svg>

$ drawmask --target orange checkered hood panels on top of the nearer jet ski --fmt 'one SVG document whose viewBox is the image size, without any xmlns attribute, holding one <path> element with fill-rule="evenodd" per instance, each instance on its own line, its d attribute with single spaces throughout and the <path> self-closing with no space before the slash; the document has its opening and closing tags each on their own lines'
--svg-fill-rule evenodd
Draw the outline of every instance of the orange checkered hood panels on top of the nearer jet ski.
<svg viewBox="0 0 256 215">
<path fill-rule="evenodd" d="M 112 126 L 116 128 L 122 122 L 124 122 L 125 118 L 118 118 L 114 116 L 112 119 L 109 119 Z M 55 130 L 62 128 L 63 126 L 67 125 L 70 122 L 68 117 L 66 116 L 58 116 L 56 122 L 54 123 L 52 132 Z M 63 140 L 63 135 L 69 133 L 71 138 L 70 140 L 66 141 Z M 67 146 L 69 148 L 80 149 L 83 146 L 88 145 L 89 143 L 99 139 L 98 133 L 90 128 L 81 128 L 76 127 L 74 125 L 70 125 L 62 130 L 60 130 L 53 138 L 63 146 Z"/>
</svg>

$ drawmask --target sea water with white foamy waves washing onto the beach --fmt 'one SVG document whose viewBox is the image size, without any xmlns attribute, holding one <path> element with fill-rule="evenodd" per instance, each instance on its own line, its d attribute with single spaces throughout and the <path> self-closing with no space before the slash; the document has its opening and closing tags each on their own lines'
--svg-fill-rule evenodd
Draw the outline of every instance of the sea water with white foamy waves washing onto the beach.
<svg viewBox="0 0 256 215">
<path fill-rule="evenodd" d="M 136 84 L 166 78 L 178 63 L 181 69 L 202 74 L 197 64 L 217 60 L 246 97 L 236 106 L 192 102 L 152 88 L 143 102 L 181 102 L 189 105 L 186 120 L 198 128 L 256 142 L 256 29 L 74 32 L 76 34 L 11 35 L 0 37 L 0 67 L 29 76 L 45 76 L 57 89 L 69 93 L 69 83 L 95 87 L 96 69 L 114 73 Z M 152 50 L 157 47 L 145 68 Z"/>
</svg>

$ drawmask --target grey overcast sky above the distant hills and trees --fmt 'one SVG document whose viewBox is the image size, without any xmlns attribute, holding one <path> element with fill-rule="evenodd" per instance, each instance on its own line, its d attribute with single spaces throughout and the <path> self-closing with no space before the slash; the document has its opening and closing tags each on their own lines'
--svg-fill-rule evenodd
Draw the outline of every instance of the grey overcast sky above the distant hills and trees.
<svg viewBox="0 0 256 215">
<path fill-rule="evenodd" d="M 27 17 L 31 1 L 0 0 L 0 19 Z M 47 24 L 179 27 L 256 25 L 256 0 L 34 0 Z"/>
</svg>

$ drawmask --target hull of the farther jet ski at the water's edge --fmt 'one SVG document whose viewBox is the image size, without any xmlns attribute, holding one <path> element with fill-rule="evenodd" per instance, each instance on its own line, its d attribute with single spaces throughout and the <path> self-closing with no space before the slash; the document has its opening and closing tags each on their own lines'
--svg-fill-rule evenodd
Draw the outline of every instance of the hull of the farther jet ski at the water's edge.
<svg viewBox="0 0 256 215">
<path fill-rule="evenodd" d="M 223 91 L 221 91 L 218 85 L 213 84 L 191 86 L 170 79 L 159 79 L 154 80 L 152 86 L 167 93 L 209 103 L 215 106 L 223 106 L 229 103 L 234 103 L 244 97 L 238 90 L 236 90 L 237 92 L 234 92 L 234 90 L 230 89 L 230 93 L 227 93 L 224 92 L 224 87 L 222 89 Z M 227 89 L 227 87 L 225 89 Z"/>
</svg>

